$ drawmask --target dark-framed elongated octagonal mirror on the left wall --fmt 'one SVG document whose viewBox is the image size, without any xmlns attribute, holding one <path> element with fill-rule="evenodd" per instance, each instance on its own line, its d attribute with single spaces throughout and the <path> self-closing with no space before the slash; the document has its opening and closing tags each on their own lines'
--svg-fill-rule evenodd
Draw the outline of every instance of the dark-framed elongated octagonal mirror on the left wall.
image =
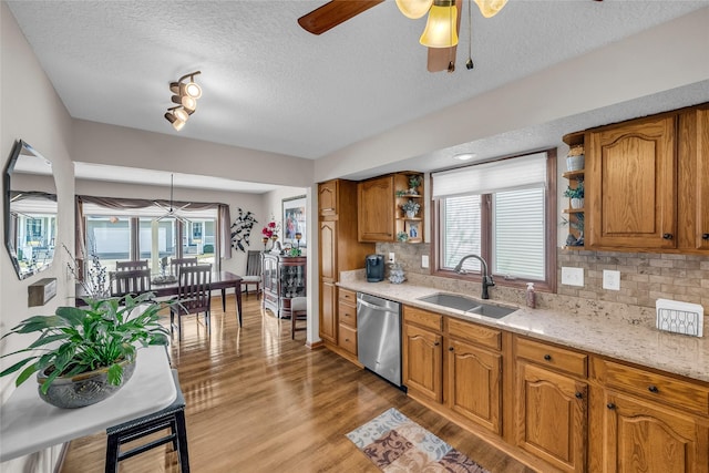
<svg viewBox="0 0 709 473">
<path fill-rule="evenodd" d="M 20 279 L 49 268 L 56 237 L 52 163 L 23 141 L 14 144 L 4 175 L 4 245 Z"/>
</svg>

